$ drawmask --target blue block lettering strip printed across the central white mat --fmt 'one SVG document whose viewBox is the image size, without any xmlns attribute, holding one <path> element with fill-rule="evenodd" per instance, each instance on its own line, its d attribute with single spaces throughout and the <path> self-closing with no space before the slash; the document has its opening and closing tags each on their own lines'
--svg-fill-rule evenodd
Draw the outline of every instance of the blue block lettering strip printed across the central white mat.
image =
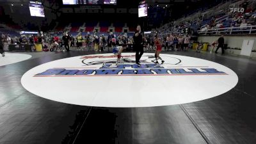
<svg viewBox="0 0 256 144">
<path fill-rule="evenodd" d="M 172 76 L 172 75 L 227 75 L 215 68 L 165 68 L 157 64 L 138 65 L 106 64 L 97 69 L 84 68 L 51 68 L 34 77 L 58 77 L 58 76 Z"/>
</svg>

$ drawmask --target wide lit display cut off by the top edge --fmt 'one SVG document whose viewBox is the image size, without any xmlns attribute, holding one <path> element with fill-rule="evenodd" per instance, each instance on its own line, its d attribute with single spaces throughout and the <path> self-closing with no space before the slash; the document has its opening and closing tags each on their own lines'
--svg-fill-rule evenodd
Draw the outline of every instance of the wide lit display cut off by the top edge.
<svg viewBox="0 0 256 144">
<path fill-rule="evenodd" d="M 116 4 L 116 0 L 62 0 L 63 4 Z"/>
</svg>

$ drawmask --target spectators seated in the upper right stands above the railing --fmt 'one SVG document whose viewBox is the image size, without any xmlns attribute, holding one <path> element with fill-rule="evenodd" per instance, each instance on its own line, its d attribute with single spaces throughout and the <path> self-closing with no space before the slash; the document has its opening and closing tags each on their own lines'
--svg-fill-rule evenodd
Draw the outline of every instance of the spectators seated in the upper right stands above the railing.
<svg viewBox="0 0 256 144">
<path fill-rule="evenodd" d="M 203 15 L 198 16 L 193 22 L 187 21 L 182 24 L 173 24 L 173 22 L 165 24 L 161 28 L 157 29 L 161 33 L 180 33 L 181 29 L 191 28 L 196 26 L 198 29 L 193 29 L 194 33 L 200 30 L 199 33 L 205 33 L 208 31 L 216 31 L 221 28 L 234 28 L 237 27 L 239 30 L 250 30 L 246 26 L 256 26 L 256 8 L 248 3 L 242 3 L 239 8 L 243 8 L 243 12 L 234 12 L 230 9 L 224 11 L 220 15 L 215 15 L 209 19 L 205 19 Z M 219 19 L 223 17 L 224 19 Z M 207 23 L 205 24 L 205 21 Z M 256 29 L 253 29 L 252 33 L 255 33 Z"/>
</svg>

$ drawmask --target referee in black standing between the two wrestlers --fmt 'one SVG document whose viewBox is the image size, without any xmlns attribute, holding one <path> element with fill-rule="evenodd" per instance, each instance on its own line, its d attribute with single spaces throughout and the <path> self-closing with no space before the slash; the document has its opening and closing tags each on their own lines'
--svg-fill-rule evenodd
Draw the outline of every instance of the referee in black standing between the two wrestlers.
<svg viewBox="0 0 256 144">
<path fill-rule="evenodd" d="M 134 40 L 134 48 L 136 49 L 136 64 L 140 67 L 140 58 L 144 53 L 140 25 L 137 26 L 137 29 L 133 36 L 133 40 Z"/>
</svg>

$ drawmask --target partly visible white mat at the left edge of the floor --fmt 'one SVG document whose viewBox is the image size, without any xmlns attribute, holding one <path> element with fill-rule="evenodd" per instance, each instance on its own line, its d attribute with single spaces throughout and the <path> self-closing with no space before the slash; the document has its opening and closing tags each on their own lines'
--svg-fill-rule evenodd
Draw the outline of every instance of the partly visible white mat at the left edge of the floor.
<svg viewBox="0 0 256 144">
<path fill-rule="evenodd" d="M 15 53 L 5 52 L 4 57 L 2 57 L 2 54 L 0 54 L 0 66 L 10 65 L 12 63 L 18 63 L 20 61 L 28 60 L 31 57 L 32 56 L 29 54 L 15 54 Z"/>
</svg>

